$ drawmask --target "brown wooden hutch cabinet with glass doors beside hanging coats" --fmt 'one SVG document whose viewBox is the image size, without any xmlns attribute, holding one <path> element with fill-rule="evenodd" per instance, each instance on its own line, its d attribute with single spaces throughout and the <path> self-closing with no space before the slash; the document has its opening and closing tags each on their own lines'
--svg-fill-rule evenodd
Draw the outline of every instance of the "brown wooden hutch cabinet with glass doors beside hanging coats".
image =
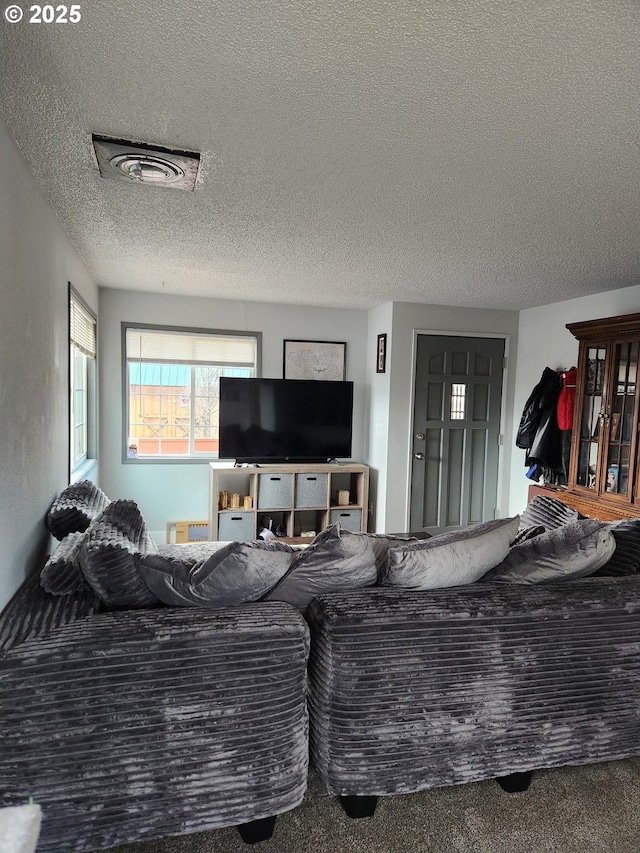
<svg viewBox="0 0 640 853">
<path fill-rule="evenodd" d="M 567 328 L 580 342 L 571 463 L 554 496 L 584 515 L 640 517 L 640 314 Z"/>
</svg>

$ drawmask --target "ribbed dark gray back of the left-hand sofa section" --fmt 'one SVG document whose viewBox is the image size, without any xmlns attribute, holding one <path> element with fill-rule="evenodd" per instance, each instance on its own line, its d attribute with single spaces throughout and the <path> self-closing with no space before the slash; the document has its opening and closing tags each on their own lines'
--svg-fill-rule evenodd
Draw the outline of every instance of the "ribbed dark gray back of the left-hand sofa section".
<svg viewBox="0 0 640 853">
<path fill-rule="evenodd" d="M 288 605 L 104 613 L 0 657 L 0 803 L 40 851 L 233 826 L 297 805 L 308 630 Z"/>
</svg>

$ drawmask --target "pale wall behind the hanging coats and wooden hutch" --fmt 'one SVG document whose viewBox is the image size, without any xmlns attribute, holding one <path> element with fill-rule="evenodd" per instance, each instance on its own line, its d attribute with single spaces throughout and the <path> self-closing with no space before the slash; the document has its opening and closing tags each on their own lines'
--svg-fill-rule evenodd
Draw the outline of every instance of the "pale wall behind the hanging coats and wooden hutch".
<svg viewBox="0 0 640 853">
<path fill-rule="evenodd" d="M 545 367 L 551 367 L 553 370 L 571 367 L 576 364 L 578 358 L 578 342 L 565 328 L 565 324 L 636 312 L 640 312 L 640 285 L 520 312 L 514 431 L 511 442 L 511 514 L 522 512 L 527 505 L 527 491 L 531 485 L 525 477 L 525 452 L 515 447 L 515 431 L 527 397 L 540 380 Z"/>
</svg>

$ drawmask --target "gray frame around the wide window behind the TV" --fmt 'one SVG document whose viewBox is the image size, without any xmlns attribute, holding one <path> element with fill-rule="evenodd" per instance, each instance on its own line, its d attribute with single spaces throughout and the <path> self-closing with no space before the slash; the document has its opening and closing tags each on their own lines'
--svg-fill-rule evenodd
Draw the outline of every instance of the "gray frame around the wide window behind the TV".
<svg viewBox="0 0 640 853">
<path fill-rule="evenodd" d="M 135 323 L 129 322 L 127 320 L 123 320 L 121 323 L 121 347 L 122 347 L 122 462 L 126 464 L 132 465 L 191 465 L 191 464 L 202 464 L 203 462 L 211 462 L 217 460 L 218 455 L 214 455 L 209 452 L 201 451 L 196 452 L 195 454 L 189 455 L 181 455 L 181 456 L 171 456 L 171 455 L 158 455 L 158 456 L 135 456 L 130 457 L 128 454 L 128 444 L 129 444 L 129 422 L 130 422 L 130 400 L 131 393 L 129 388 L 129 370 L 128 370 L 128 360 L 127 360 L 127 331 L 130 329 L 138 329 L 138 330 L 149 330 L 151 332 L 164 332 L 167 334 L 172 333 L 183 333 L 183 334 L 192 334 L 192 335 L 204 335 L 211 337 L 239 337 L 239 338 L 253 338 L 255 340 L 255 349 L 256 349 L 256 357 L 255 357 L 255 365 L 254 365 L 254 376 L 260 377 L 262 375 L 262 332 L 254 332 L 254 331 L 245 331 L 245 330 L 236 330 L 236 329 L 210 329 L 203 328 L 200 326 L 174 326 L 174 325 L 166 325 L 164 323 Z M 164 362 L 170 363 L 170 362 Z M 193 370 L 193 365 L 190 365 L 191 370 Z M 189 430 L 190 434 L 193 431 L 193 419 L 190 419 L 189 422 Z"/>
</svg>

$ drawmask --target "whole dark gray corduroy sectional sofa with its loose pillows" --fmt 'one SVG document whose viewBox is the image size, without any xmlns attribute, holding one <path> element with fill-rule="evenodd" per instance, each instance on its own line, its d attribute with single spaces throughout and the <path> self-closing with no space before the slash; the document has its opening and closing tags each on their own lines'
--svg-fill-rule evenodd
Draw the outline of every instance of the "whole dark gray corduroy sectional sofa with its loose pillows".
<svg viewBox="0 0 640 853">
<path fill-rule="evenodd" d="M 84 488 L 0 616 L 0 805 L 42 806 L 39 853 L 264 840 L 309 752 L 354 817 L 640 754 L 640 525 L 543 502 L 439 542 L 163 549 Z"/>
</svg>

